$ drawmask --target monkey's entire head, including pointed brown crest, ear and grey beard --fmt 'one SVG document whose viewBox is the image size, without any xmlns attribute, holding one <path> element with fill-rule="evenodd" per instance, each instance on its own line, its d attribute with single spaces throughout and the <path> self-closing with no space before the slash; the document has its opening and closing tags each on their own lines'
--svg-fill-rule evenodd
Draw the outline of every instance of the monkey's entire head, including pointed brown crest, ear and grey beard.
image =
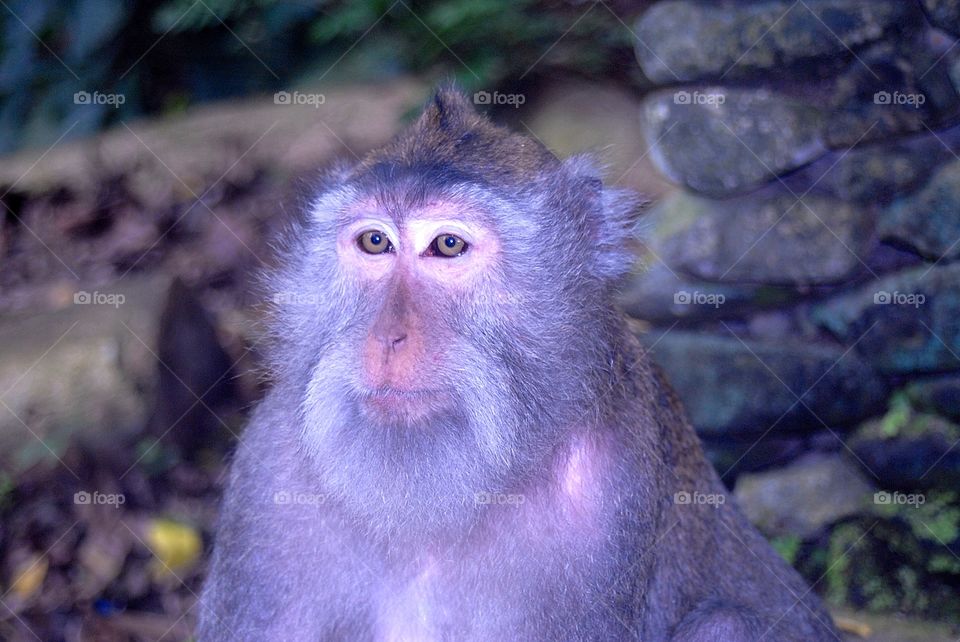
<svg viewBox="0 0 960 642">
<path fill-rule="evenodd" d="M 441 93 L 299 230 L 278 383 L 323 492 L 396 530 L 481 510 L 596 421 L 635 201 Z"/>
</svg>

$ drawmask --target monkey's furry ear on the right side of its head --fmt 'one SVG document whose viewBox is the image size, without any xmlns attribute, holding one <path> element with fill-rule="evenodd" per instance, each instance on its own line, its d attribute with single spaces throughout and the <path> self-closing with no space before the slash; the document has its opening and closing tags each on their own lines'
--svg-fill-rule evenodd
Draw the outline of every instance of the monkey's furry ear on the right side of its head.
<svg viewBox="0 0 960 642">
<path fill-rule="evenodd" d="M 604 186 L 601 168 L 589 154 L 568 158 L 564 167 L 587 192 L 584 218 L 597 248 L 597 273 L 605 279 L 621 278 L 636 263 L 642 242 L 639 218 L 648 201 L 632 190 Z"/>
</svg>

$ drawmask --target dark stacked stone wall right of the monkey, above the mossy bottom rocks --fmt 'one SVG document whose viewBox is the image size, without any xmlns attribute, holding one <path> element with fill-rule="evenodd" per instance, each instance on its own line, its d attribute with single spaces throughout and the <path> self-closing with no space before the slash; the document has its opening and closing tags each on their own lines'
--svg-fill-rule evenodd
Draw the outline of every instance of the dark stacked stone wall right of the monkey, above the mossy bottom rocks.
<svg viewBox="0 0 960 642">
<path fill-rule="evenodd" d="M 814 447 L 954 492 L 960 0 L 662 0 L 635 34 L 679 189 L 625 304 L 720 472 Z"/>
</svg>

